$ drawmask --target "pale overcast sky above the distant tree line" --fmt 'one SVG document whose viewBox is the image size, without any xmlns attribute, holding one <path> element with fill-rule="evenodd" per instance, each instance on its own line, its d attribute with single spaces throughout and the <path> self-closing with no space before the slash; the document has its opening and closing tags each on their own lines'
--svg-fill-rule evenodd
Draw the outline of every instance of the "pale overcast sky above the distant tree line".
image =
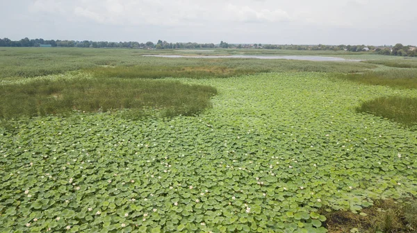
<svg viewBox="0 0 417 233">
<path fill-rule="evenodd" d="M 416 10 L 416 0 L 0 0 L 0 37 L 416 45 Z"/>
</svg>

